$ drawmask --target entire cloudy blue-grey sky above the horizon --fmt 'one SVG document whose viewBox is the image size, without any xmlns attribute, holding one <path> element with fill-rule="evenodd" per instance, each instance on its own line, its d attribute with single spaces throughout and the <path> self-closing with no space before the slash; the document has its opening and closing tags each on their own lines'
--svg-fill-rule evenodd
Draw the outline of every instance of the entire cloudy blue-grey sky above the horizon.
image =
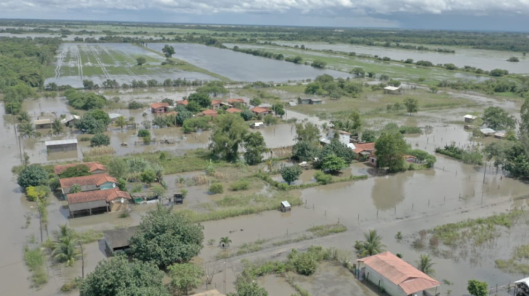
<svg viewBox="0 0 529 296">
<path fill-rule="evenodd" d="M 0 0 L 0 18 L 529 31 L 529 0 Z"/>
</svg>

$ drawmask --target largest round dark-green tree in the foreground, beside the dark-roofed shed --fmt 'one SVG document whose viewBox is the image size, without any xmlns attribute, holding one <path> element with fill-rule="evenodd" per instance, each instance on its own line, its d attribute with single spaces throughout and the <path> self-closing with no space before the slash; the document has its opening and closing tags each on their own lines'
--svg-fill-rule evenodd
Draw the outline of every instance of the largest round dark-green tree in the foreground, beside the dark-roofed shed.
<svg viewBox="0 0 529 296">
<path fill-rule="evenodd" d="M 133 258 L 166 267 L 195 257 L 202 249 L 203 240 L 200 224 L 159 205 L 142 217 L 138 230 L 130 238 L 129 252 Z"/>
</svg>

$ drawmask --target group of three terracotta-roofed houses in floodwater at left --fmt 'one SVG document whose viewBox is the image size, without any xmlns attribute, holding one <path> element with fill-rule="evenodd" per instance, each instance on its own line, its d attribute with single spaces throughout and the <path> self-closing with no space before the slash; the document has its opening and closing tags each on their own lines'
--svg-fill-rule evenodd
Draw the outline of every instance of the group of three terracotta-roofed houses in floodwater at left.
<svg viewBox="0 0 529 296">
<path fill-rule="evenodd" d="M 68 201 L 71 218 L 75 214 L 92 215 L 101 211 L 121 211 L 128 208 L 130 195 L 119 190 L 118 180 L 111 177 L 107 173 L 107 167 L 97 161 L 54 166 L 54 173 L 59 175 L 74 166 L 87 166 L 90 175 L 59 180 L 63 197 Z M 72 192 L 73 187 L 77 188 L 75 192 Z"/>
</svg>

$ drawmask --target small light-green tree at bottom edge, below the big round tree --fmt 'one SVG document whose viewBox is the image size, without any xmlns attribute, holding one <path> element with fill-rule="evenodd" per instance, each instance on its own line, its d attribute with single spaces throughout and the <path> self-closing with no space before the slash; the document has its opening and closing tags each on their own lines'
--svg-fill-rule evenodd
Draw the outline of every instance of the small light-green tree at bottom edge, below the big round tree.
<svg viewBox="0 0 529 296">
<path fill-rule="evenodd" d="M 195 264 L 183 263 L 169 266 L 171 285 L 181 295 L 188 295 L 190 289 L 197 288 L 202 283 L 204 271 Z"/>
</svg>

